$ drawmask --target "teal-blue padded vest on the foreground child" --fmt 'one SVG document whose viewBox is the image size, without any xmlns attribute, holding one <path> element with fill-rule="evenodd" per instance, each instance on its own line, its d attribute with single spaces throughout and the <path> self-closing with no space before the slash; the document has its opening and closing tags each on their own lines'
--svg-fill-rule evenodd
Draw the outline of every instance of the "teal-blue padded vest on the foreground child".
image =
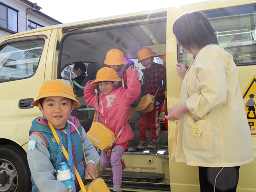
<svg viewBox="0 0 256 192">
<path fill-rule="evenodd" d="M 46 140 L 48 144 L 48 151 L 50 152 L 50 162 L 52 163 L 52 166 L 56 168 L 56 163 L 57 163 L 57 158 L 58 158 L 58 143 L 56 142 L 52 130 L 48 125 L 40 124 L 36 122 L 37 119 L 40 117 L 34 119 L 32 121 L 32 126 L 29 130 L 29 135 L 32 132 L 39 132 L 44 139 Z M 66 123 L 66 126 L 69 126 L 68 123 Z M 60 136 L 62 137 L 62 144 L 65 147 L 65 149 L 68 151 L 68 138 L 66 134 L 64 134 L 62 131 L 55 129 L 56 132 L 58 131 Z M 80 135 L 82 136 L 82 127 L 79 125 L 78 131 Z M 84 170 L 85 170 L 85 160 L 84 160 L 84 150 L 82 147 L 82 138 L 80 137 L 78 132 L 70 132 L 70 137 L 71 137 L 71 143 L 72 143 L 72 155 L 74 162 L 76 162 L 76 169 L 78 173 L 80 174 L 80 177 L 82 178 L 83 182 L 84 181 Z M 65 162 L 67 161 L 66 157 L 64 156 L 63 152 L 61 154 L 61 161 L 60 162 Z M 84 166 L 83 166 L 84 165 Z M 31 175 L 31 182 L 32 182 L 32 192 L 38 192 L 38 188 L 36 187 L 36 184 L 34 183 L 34 179 L 32 178 Z M 79 186 L 79 184 L 78 184 Z M 80 187 L 79 187 L 80 188 Z M 79 191 L 79 190 L 78 190 Z"/>
</svg>

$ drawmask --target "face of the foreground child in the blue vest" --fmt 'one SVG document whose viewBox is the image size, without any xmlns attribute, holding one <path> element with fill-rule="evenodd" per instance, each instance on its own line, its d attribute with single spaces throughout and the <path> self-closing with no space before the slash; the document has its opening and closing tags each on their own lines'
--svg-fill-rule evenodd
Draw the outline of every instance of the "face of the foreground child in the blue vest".
<svg viewBox="0 0 256 192">
<path fill-rule="evenodd" d="M 46 97 L 43 106 L 38 104 L 38 107 L 46 119 L 57 129 L 65 127 L 66 121 L 74 109 L 69 98 L 59 96 Z"/>
</svg>

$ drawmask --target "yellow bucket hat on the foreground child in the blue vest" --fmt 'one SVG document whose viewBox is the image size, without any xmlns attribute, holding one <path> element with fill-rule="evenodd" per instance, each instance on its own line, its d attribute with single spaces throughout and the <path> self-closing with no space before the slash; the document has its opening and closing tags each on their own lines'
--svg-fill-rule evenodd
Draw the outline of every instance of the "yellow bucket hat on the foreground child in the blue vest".
<svg viewBox="0 0 256 192">
<path fill-rule="evenodd" d="M 45 97 L 54 97 L 54 96 L 66 97 L 66 98 L 72 99 L 74 100 L 74 103 L 73 103 L 74 108 L 80 107 L 80 103 L 78 100 L 76 100 L 76 95 L 74 94 L 74 91 L 70 86 L 70 84 L 60 79 L 46 81 L 41 86 L 38 97 L 34 102 L 32 102 L 32 105 L 38 106 L 39 99 L 45 98 Z"/>
</svg>

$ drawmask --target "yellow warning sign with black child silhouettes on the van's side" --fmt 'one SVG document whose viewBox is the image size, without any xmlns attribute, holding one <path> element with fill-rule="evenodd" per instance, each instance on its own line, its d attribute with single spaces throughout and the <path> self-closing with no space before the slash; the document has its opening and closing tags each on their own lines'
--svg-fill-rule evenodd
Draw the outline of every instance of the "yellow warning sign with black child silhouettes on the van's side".
<svg viewBox="0 0 256 192">
<path fill-rule="evenodd" d="M 244 107 L 252 137 L 256 137 L 256 76 L 254 75 L 243 93 Z"/>
</svg>

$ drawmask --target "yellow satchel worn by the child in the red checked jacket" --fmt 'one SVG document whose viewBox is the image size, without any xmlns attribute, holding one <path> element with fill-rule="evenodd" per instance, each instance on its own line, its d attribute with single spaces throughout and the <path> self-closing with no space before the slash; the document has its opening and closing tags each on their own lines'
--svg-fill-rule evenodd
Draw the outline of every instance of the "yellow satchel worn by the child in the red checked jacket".
<svg viewBox="0 0 256 192">
<path fill-rule="evenodd" d="M 142 98 L 140 98 L 140 101 L 138 103 L 138 106 L 133 108 L 134 111 L 138 111 L 139 113 L 148 113 L 154 110 L 154 103 L 156 94 L 160 88 L 160 85 L 158 86 L 155 95 L 146 94 Z"/>
</svg>

